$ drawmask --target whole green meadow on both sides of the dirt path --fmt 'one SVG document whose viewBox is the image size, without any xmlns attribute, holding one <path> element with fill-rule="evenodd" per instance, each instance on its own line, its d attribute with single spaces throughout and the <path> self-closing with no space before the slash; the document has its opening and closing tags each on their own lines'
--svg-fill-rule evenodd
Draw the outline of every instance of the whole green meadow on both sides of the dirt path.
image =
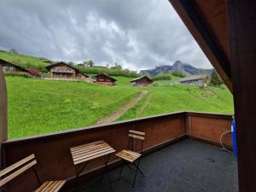
<svg viewBox="0 0 256 192">
<path fill-rule="evenodd" d="M 143 90 L 140 102 L 118 120 L 177 111 L 233 113 L 229 90 L 178 84 L 132 88 L 130 78 L 115 77 L 118 86 L 85 82 L 7 77 L 9 138 L 95 125 Z"/>
</svg>

